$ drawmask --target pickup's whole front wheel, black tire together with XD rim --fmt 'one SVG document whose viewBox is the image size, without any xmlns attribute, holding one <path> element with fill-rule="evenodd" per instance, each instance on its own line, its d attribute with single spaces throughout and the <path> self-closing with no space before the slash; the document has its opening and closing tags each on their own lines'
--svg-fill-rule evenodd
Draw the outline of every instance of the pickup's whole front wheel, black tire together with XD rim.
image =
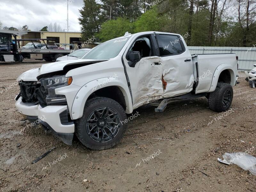
<svg viewBox="0 0 256 192">
<path fill-rule="evenodd" d="M 124 136 L 124 108 L 115 100 L 97 97 L 88 100 L 83 116 L 75 122 L 76 136 L 87 148 L 112 148 Z"/>
</svg>

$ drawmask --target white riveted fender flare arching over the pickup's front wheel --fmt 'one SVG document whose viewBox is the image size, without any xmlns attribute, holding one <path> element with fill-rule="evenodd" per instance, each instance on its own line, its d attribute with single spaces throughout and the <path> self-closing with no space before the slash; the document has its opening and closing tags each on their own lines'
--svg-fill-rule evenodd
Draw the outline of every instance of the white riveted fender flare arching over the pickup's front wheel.
<svg viewBox="0 0 256 192">
<path fill-rule="evenodd" d="M 111 79 L 111 80 L 109 80 Z M 96 86 L 95 86 L 96 85 Z M 95 79 L 93 81 L 85 84 L 81 89 L 76 93 L 74 98 L 72 108 L 71 108 L 71 118 L 79 119 L 83 116 L 84 105 L 88 97 L 95 91 L 102 89 L 104 87 L 117 86 L 120 88 L 121 92 L 124 95 L 124 100 L 126 104 L 126 113 L 132 113 L 132 98 L 127 84 L 124 84 L 121 79 L 113 77 L 103 77 L 100 79 Z"/>
</svg>

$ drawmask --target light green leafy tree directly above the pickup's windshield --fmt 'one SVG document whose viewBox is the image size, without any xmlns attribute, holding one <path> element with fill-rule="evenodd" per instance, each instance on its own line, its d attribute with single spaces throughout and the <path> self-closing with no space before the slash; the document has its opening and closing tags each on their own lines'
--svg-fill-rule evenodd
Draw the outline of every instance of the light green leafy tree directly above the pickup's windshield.
<svg viewBox="0 0 256 192">
<path fill-rule="evenodd" d="M 133 23 L 125 18 L 117 18 L 116 20 L 108 20 L 101 25 L 100 32 L 96 35 L 102 42 L 124 36 L 125 32 L 133 33 Z"/>
</svg>

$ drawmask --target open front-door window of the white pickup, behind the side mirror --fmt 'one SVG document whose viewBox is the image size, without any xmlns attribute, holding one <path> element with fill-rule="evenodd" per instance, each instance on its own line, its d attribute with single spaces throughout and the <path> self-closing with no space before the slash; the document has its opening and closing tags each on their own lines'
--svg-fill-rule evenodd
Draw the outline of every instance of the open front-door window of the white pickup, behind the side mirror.
<svg viewBox="0 0 256 192">
<path fill-rule="evenodd" d="M 134 44 L 132 45 L 131 49 L 129 50 L 131 51 L 138 51 L 140 52 L 141 57 L 150 57 L 152 56 L 152 42 L 150 40 L 150 37 L 141 37 L 138 38 Z"/>
</svg>

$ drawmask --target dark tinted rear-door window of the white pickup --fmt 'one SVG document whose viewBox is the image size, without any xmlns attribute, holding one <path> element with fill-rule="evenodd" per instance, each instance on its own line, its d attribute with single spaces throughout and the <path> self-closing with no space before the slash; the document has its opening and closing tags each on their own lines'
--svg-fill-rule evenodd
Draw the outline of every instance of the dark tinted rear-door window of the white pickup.
<svg viewBox="0 0 256 192">
<path fill-rule="evenodd" d="M 157 40 L 160 56 L 179 54 L 183 52 L 178 36 L 158 35 Z"/>
</svg>

